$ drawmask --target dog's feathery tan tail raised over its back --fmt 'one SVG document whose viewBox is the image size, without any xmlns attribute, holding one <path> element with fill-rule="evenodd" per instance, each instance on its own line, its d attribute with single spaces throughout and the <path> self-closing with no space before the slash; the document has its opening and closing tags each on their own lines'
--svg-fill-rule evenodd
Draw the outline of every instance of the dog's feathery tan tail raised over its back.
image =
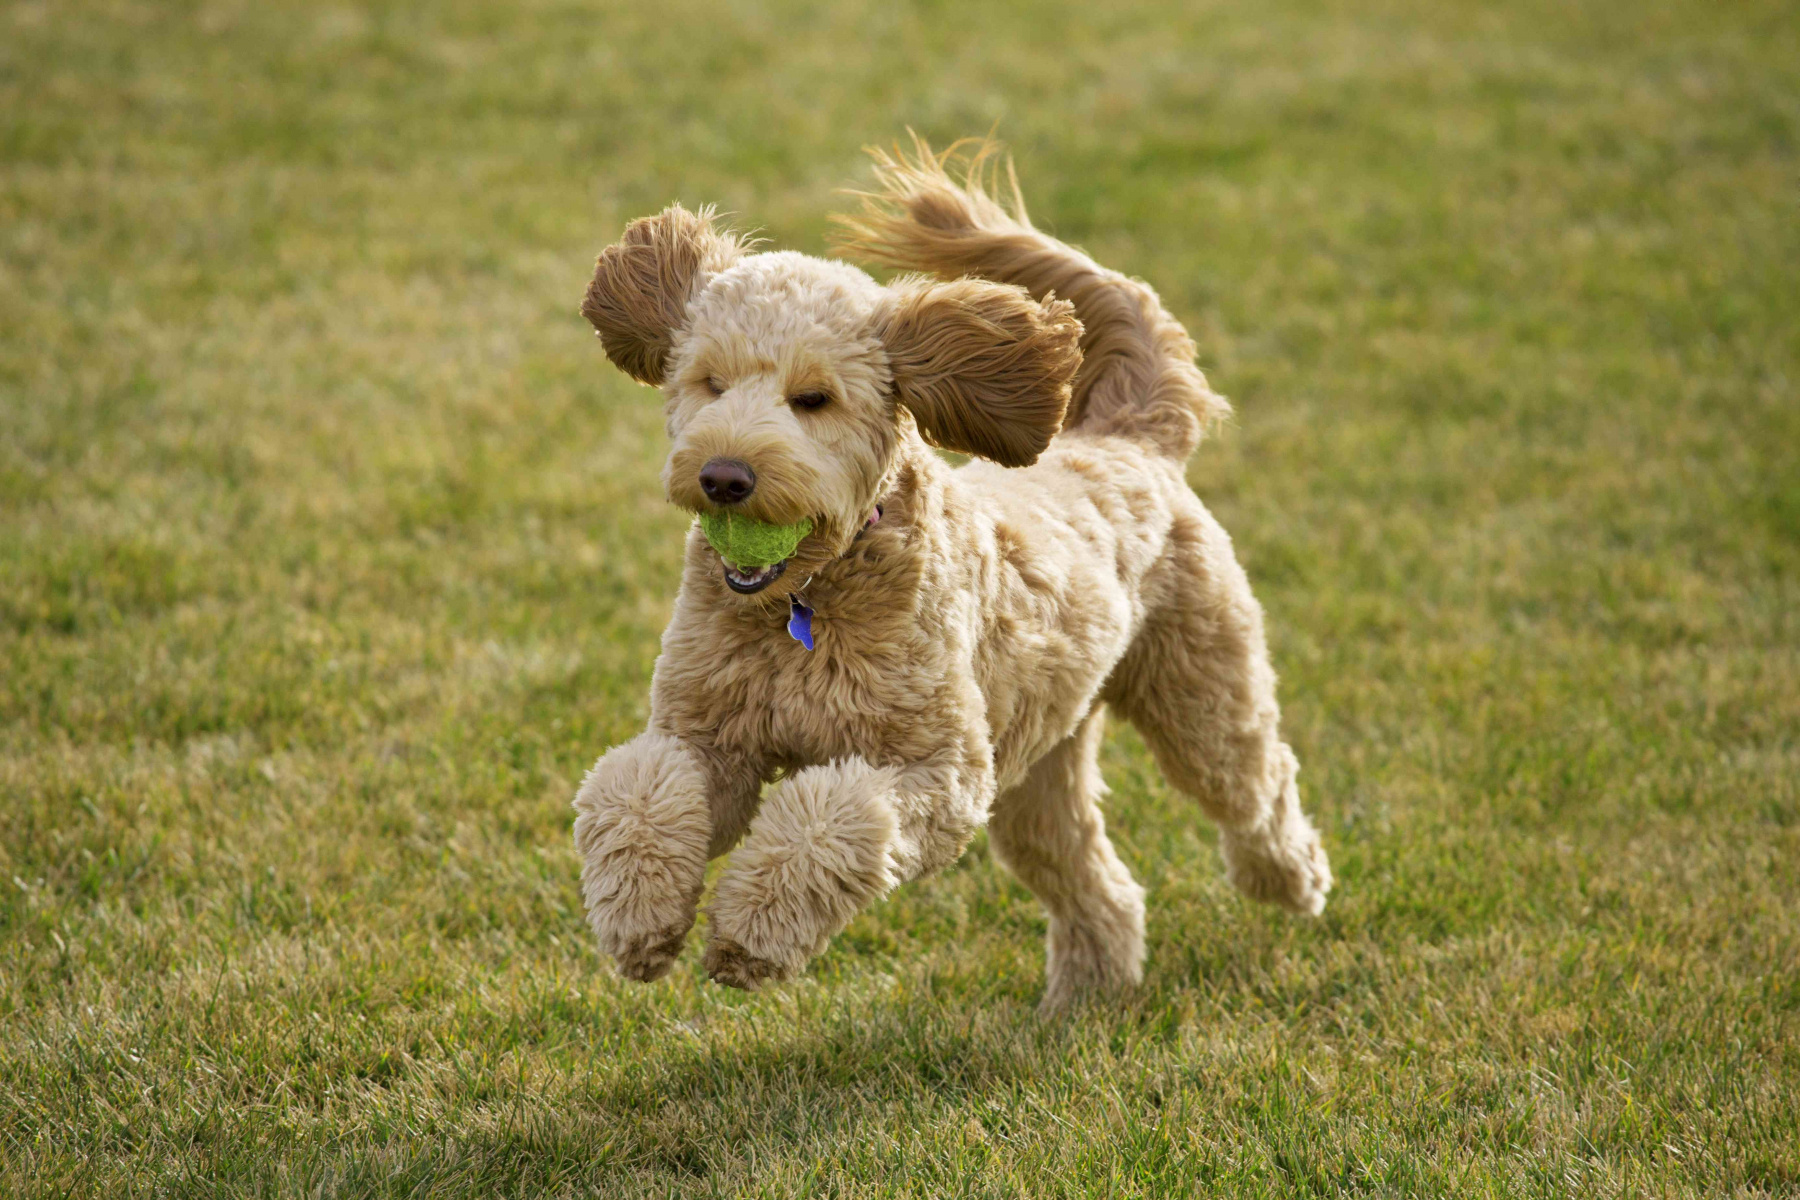
<svg viewBox="0 0 1800 1200">
<path fill-rule="evenodd" d="M 878 191 L 855 193 L 862 210 L 833 218 L 837 245 L 871 263 L 945 279 L 979 275 L 1055 293 L 1082 320 L 1082 369 L 1066 430 L 1116 434 L 1175 459 L 1231 412 L 1193 365 L 1193 342 L 1156 291 L 1031 228 L 1012 162 L 990 140 L 932 153 L 913 135 L 911 153 L 869 151 Z M 1004 164 L 1010 212 L 995 198 Z M 952 178 L 950 167 L 959 167 Z"/>
</svg>

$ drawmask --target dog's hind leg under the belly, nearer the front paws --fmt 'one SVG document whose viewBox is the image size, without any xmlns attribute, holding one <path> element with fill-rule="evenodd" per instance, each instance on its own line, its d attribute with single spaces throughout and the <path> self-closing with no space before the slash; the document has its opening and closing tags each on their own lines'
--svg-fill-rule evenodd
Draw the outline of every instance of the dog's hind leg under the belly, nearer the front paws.
<svg viewBox="0 0 1800 1200">
<path fill-rule="evenodd" d="M 1096 703 L 988 817 L 994 855 L 1049 914 L 1042 1013 L 1143 977 L 1143 889 L 1112 853 L 1100 815 L 1103 725 Z"/>
</svg>

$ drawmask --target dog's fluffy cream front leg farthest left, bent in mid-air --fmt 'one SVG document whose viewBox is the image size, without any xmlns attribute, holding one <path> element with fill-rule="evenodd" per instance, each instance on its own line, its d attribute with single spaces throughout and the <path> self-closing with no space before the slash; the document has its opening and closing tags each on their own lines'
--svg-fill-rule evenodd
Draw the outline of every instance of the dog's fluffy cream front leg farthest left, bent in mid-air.
<svg viewBox="0 0 1800 1200">
<path fill-rule="evenodd" d="M 668 734 L 608 750 L 574 797 L 587 921 L 626 979 L 668 973 L 693 928 L 706 862 L 743 829 L 754 770 Z"/>
</svg>

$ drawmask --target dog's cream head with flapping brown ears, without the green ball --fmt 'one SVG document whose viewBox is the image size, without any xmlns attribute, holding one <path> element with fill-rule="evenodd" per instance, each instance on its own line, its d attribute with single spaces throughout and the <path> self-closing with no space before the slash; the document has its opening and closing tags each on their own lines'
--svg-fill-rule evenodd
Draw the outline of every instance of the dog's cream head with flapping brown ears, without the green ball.
<svg viewBox="0 0 1800 1200">
<path fill-rule="evenodd" d="M 670 500 L 810 520 L 788 560 L 803 569 L 848 549 L 914 428 L 945 450 L 1035 462 L 1082 358 L 1062 300 L 983 279 L 882 286 L 846 263 L 751 254 L 679 205 L 601 252 L 581 313 L 621 371 L 662 389 Z M 725 583 L 761 592 L 787 565 Z"/>
</svg>

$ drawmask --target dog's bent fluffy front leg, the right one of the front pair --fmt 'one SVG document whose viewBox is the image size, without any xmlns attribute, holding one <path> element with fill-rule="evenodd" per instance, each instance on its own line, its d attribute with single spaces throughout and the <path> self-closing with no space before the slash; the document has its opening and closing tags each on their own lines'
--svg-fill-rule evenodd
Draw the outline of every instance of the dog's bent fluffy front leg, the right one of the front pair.
<svg viewBox="0 0 1800 1200">
<path fill-rule="evenodd" d="M 709 910 L 707 973 L 758 988 L 797 973 L 869 901 L 968 846 L 992 799 L 983 761 L 796 772 L 763 799 Z"/>
</svg>

